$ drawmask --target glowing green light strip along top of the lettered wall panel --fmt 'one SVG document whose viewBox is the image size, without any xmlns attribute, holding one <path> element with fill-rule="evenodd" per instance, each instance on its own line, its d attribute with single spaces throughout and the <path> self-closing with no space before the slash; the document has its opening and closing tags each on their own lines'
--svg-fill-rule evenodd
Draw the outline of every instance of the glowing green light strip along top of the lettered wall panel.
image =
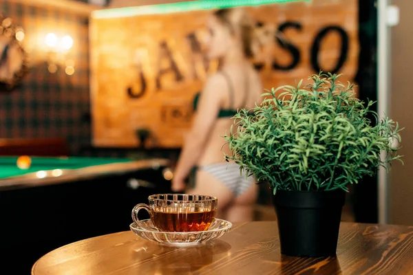
<svg viewBox="0 0 413 275">
<path fill-rule="evenodd" d="M 92 12 L 93 18 L 133 17 L 147 14 L 167 14 L 173 12 L 190 12 L 192 10 L 211 10 L 214 8 L 234 8 L 247 5 L 266 5 L 272 3 L 296 2 L 300 0 L 200 0 L 160 5 L 141 5 L 131 8 L 114 8 L 96 10 Z M 301 0 L 303 1 L 303 0 Z M 308 0 L 304 0 L 308 1 Z"/>
</svg>

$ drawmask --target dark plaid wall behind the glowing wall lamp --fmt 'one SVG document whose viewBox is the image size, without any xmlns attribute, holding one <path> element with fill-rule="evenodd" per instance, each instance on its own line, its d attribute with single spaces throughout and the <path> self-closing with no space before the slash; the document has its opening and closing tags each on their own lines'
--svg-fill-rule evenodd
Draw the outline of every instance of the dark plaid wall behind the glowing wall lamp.
<svg viewBox="0 0 413 275">
<path fill-rule="evenodd" d="M 1 137 L 65 137 L 72 154 L 81 153 L 90 142 L 88 19 L 64 10 L 36 8 L 0 1 L 0 12 L 25 30 L 25 47 L 30 49 L 30 72 L 11 92 L 0 92 Z M 65 30 L 74 39 L 70 58 L 76 72 L 67 76 L 64 67 L 55 74 L 47 70 L 38 45 L 48 30 Z M 42 60 L 43 57 L 43 60 Z"/>
</svg>

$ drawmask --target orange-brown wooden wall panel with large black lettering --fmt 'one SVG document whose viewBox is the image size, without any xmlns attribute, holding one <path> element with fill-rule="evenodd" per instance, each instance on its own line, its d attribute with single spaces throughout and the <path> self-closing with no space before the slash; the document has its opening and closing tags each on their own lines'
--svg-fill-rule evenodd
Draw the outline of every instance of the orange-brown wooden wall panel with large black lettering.
<svg viewBox="0 0 413 275">
<path fill-rule="evenodd" d="M 357 73 L 359 43 L 357 0 L 318 0 L 246 8 L 255 21 L 262 50 L 255 58 L 261 64 L 264 87 L 293 85 L 316 73 L 314 63 L 330 71 L 340 56 L 343 83 Z M 134 17 L 94 18 L 91 23 L 92 113 L 96 146 L 138 146 L 137 129 L 147 129 L 146 146 L 177 147 L 191 126 L 192 101 L 208 74 L 202 55 L 189 37 L 198 41 L 211 10 Z M 280 26 L 299 52 L 293 63 L 292 48 L 283 48 L 274 38 Z M 323 32 L 326 35 L 323 36 Z M 317 39 L 317 36 L 321 39 Z M 343 37 L 344 36 L 344 40 Z M 346 45 L 347 53 L 342 49 Z M 315 58 L 312 51 L 317 50 Z M 195 49 L 195 50 L 194 50 Z M 297 56 L 297 55 L 296 55 Z M 175 69 L 171 67 L 175 66 Z M 128 95 L 128 88 L 131 95 Z"/>
</svg>

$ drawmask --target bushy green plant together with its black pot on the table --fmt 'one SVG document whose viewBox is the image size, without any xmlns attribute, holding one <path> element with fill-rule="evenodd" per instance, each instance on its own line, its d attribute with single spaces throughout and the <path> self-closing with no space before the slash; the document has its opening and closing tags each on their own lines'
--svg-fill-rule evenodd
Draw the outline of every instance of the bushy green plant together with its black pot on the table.
<svg viewBox="0 0 413 275">
<path fill-rule="evenodd" d="M 399 125 L 337 78 L 320 72 L 306 87 L 301 80 L 266 92 L 262 104 L 238 111 L 236 129 L 224 136 L 226 160 L 273 188 L 282 254 L 336 254 L 348 185 L 401 157 L 392 147 Z"/>
</svg>

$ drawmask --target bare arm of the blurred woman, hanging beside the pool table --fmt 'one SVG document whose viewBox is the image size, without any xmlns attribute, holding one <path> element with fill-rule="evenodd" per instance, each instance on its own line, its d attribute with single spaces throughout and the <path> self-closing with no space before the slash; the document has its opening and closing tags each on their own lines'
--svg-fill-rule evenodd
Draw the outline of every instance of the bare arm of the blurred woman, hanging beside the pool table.
<svg viewBox="0 0 413 275">
<path fill-rule="evenodd" d="M 225 80 L 222 76 L 215 74 L 207 80 L 207 83 L 202 90 L 198 103 L 198 110 L 193 120 L 193 126 L 187 136 L 182 152 L 180 154 L 178 164 L 172 179 L 172 190 L 184 190 L 186 179 L 191 172 L 191 168 L 201 156 L 207 138 L 215 120 L 223 98 L 223 94 L 227 94 Z"/>
</svg>

